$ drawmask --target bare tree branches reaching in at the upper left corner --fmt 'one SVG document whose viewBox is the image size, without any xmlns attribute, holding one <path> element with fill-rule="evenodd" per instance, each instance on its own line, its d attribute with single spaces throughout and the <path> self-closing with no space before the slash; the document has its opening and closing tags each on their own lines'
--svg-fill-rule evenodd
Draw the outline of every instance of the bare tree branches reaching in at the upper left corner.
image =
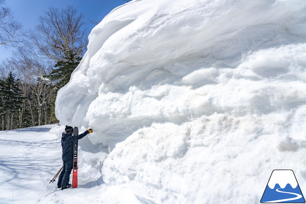
<svg viewBox="0 0 306 204">
<path fill-rule="evenodd" d="M 13 12 L 5 6 L 5 0 L 0 0 L 0 44 L 11 47 L 21 47 L 24 36 L 23 25 L 14 20 Z"/>
</svg>

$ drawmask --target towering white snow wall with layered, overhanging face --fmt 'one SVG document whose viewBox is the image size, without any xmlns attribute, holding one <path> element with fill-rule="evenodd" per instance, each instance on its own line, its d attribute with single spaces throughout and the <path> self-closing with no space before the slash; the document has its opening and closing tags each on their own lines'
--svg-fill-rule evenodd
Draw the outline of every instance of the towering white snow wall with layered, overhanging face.
<svg viewBox="0 0 306 204">
<path fill-rule="evenodd" d="M 91 31 L 56 115 L 94 129 L 108 189 L 142 203 L 258 203 L 273 169 L 306 191 L 305 5 L 119 6 Z"/>
</svg>

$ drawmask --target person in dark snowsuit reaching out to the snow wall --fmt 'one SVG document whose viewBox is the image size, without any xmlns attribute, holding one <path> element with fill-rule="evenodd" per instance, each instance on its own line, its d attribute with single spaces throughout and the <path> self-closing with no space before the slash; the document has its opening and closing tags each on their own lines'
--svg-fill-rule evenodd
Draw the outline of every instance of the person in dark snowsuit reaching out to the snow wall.
<svg viewBox="0 0 306 204">
<path fill-rule="evenodd" d="M 73 135 L 73 127 L 66 126 L 65 132 L 62 133 L 62 159 L 63 169 L 58 177 L 58 188 L 69 188 L 70 173 L 73 168 L 73 142 L 84 138 L 85 135 L 92 133 L 92 129 L 86 130 L 82 134 Z"/>
</svg>

